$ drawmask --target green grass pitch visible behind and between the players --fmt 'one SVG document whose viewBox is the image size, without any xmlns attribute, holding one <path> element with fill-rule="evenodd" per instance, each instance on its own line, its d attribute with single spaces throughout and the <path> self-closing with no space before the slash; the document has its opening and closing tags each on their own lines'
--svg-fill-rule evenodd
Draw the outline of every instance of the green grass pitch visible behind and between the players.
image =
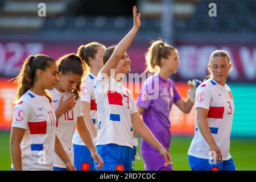
<svg viewBox="0 0 256 182">
<path fill-rule="evenodd" d="M 0 132 L 0 170 L 10 170 L 10 133 Z M 187 151 L 192 137 L 172 137 L 171 155 L 175 170 L 190 170 Z M 139 154 L 140 151 L 138 150 Z M 237 170 L 256 170 L 256 139 L 231 138 L 230 154 L 234 159 Z M 134 170 L 144 170 L 143 159 L 135 160 Z"/>
</svg>

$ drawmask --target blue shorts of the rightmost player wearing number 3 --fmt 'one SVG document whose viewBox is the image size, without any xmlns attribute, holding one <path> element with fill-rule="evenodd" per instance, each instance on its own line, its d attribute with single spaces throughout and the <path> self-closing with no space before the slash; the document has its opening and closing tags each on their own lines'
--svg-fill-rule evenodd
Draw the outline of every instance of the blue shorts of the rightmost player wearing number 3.
<svg viewBox="0 0 256 182">
<path fill-rule="evenodd" d="M 236 171 L 232 158 L 214 164 L 212 160 L 209 162 L 209 159 L 200 159 L 188 155 L 188 163 L 192 171 Z"/>
</svg>

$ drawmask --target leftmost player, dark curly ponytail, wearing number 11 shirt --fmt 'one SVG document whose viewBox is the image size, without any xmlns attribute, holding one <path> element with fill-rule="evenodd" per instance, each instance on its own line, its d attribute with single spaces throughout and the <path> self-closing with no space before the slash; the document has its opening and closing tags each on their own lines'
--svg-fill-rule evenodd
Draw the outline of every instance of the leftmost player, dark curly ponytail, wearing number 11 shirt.
<svg viewBox="0 0 256 182">
<path fill-rule="evenodd" d="M 46 55 L 29 56 L 16 77 L 18 89 L 11 128 L 12 170 L 52 170 L 54 151 L 68 170 L 75 170 L 55 134 L 51 94 L 58 67 Z"/>
</svg>

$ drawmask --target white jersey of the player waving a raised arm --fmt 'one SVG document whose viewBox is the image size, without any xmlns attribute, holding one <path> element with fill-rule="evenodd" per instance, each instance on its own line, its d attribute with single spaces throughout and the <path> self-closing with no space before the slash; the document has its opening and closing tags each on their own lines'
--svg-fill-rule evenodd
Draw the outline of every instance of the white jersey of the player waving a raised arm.
<svg viewBox="0 0 256 182">
<path fill-rule="evenodd" d="M 131 114 L 138 111 L 133 94 L 113 77 L 103 79 L 101 71 L 95 86 L 99 121 L 96 146 L 114 143 L 133 148 Z"/>
</svg>

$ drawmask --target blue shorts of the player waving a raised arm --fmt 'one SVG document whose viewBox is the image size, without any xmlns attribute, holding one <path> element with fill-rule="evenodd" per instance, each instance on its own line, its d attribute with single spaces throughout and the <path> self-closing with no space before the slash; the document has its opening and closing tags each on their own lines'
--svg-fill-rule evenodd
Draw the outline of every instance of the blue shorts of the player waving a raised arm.
<svg viewBox="0 0 256 182">
<path fill-rule="evenodd" d="M 110 143 L 96 146 L 96 150 L 104 162 L 104 166 L 97 171 L 133 171 L 133 148 Z"/>
</svg>

